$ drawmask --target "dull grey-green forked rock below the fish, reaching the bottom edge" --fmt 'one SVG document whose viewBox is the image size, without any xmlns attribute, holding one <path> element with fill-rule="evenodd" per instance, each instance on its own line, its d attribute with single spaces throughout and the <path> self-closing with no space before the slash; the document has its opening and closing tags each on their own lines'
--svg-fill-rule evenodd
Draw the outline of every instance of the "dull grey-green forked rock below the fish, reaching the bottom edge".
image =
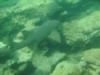
<svg viewBox="0 0 100 75">
<path fill-rule="evenodd" d="M 32 63 L 37 68 L 36 75 L 47 75 L 52 66 L 65 57 L 65 53 L 54 52 L 51 56 L 46 56 L 43 52 L 37 52 L 33 54 Z M 40 63 L 41 62 L 41 63 Z"/>
</svg>

